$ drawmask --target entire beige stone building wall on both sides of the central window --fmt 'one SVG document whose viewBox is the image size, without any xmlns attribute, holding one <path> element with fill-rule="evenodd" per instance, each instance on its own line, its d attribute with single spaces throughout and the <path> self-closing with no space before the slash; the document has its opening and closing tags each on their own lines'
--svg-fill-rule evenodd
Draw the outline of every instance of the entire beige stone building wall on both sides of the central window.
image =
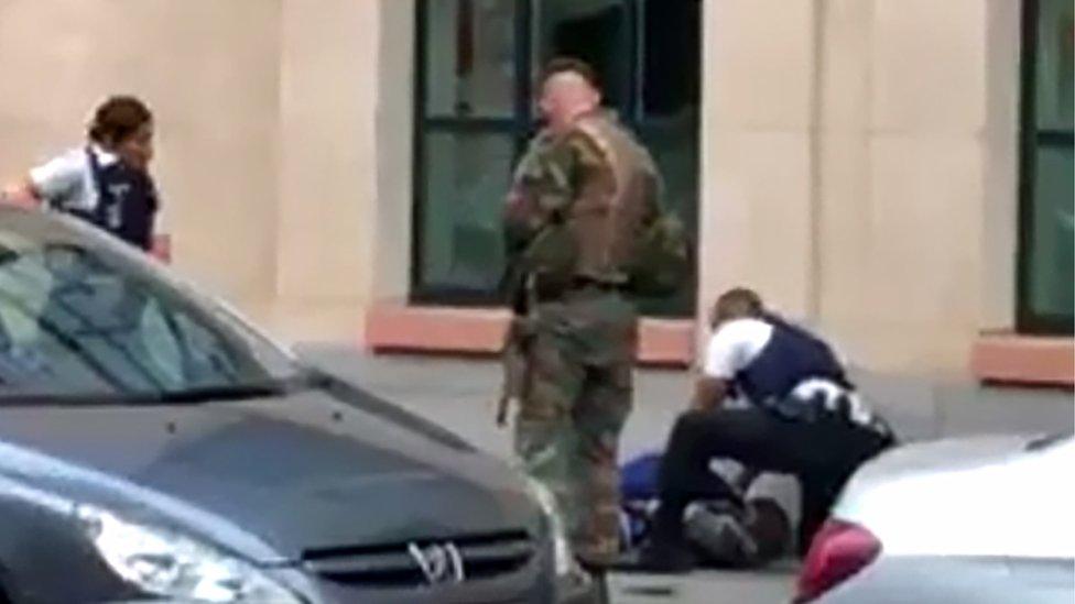
<svg viewBox="0 0 1075 604">
<path fill-rule="evenodd" d="M 415 0 L 0 0 L 0 178 L 144 96 L 177 267 L 357 340 L 410 271 Z M 703 310 L 750 284 L 879 371 L 1012 317 L 1019 8 L 706 0 Z"/>
</svg>

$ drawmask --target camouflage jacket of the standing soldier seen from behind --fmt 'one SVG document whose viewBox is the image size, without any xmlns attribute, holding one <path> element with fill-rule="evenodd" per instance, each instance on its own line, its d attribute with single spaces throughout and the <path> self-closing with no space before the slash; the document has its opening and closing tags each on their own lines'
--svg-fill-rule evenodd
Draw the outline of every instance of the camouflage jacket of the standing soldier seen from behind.
<svg viewBox="0 0 1075 604">
<path fill-rule="evenodd" d="M 623 283 L 628 248 L 656 213 L 659 195 L 652 158 L 610 113 L 585 116 L 563 134 L 540 132 L 519 162 L 504 211 L 509 300 L 518 300 L 535 262 L 560 281 Z"/>
</svg>

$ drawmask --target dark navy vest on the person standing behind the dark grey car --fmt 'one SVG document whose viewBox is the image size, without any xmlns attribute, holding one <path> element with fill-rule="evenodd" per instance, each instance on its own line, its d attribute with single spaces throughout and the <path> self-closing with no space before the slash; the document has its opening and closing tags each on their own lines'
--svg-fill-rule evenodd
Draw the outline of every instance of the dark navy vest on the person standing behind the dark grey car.
<svg viewBox="0 0 1075 604">
<path fill-rule="evenodd" d="M 97 206 L 90 210 L 72 209 L 77 216 L 121 240 L 150 250 L 158 198 L 153 179 L 143 171 L 117 161 L 102 166 L 97 155 L 86 150 L 86 157 L 97 188 Z"/>
</svg>

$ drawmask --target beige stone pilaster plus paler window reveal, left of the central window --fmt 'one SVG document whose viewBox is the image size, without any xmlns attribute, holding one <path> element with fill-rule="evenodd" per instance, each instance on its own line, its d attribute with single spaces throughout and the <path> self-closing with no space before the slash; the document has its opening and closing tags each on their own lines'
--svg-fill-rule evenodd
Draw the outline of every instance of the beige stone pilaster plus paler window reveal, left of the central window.
<svg viewBox="0 0 1075 604">
<path fill-rule="evenodd" d="M 413 22 L 411 0 L 283 1 L 270 322 L 291 339 L 357 342 L 370 304 L 406 294 Z"/>
</svg>

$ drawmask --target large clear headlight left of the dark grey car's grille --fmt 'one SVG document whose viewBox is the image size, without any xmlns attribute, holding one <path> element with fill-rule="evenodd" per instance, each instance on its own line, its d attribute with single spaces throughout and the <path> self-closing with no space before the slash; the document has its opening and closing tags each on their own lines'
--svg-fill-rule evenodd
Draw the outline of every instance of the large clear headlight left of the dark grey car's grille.
<svg viewBox="0 0 1075 604">
<path fill-rule="evenodd" d="M 252 564 L 184 535 L 79 505 L 75 518 L 108 567 L 148 594 L 195 602 L 301 604 Z"/>
</svg>

